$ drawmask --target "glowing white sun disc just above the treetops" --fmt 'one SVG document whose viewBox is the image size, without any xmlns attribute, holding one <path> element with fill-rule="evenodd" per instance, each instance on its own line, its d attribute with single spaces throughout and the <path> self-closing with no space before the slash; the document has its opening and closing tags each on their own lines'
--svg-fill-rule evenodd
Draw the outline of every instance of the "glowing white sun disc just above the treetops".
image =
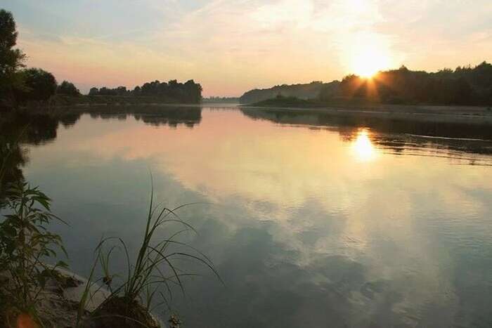
<svg viewBox="0 0 492 328">
<path fill-rule="evenodd" d="M 389 67 L 389 56 L 382 49 L 365 44 L 352 54 L 352 70 L 358 76 L 371 78 Z"/>
</svg>

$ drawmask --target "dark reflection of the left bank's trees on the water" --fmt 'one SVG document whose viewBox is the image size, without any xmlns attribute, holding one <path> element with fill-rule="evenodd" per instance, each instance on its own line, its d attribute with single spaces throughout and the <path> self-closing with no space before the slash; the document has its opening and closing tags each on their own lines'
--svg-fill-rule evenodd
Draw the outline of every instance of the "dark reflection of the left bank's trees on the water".
<svg viewBox="0 0 492 328">
<path fill-rule="evenodd" d="M 4 186 L 23 179 L 22 166 L 29 161 L 26 145 L 41 145 L 56 139 L 59 126 L 70 128 L 82 114 L 93 118 L 136 120 L 153 126 L 179 125 L 193 128 L 202 120 L 201 107 L 185 106 L 118 106 L 81 107 L 58 112 L 13 111 L 0 114 L 0 169 L 3 178 L 0 197 Z"/>
</svg>

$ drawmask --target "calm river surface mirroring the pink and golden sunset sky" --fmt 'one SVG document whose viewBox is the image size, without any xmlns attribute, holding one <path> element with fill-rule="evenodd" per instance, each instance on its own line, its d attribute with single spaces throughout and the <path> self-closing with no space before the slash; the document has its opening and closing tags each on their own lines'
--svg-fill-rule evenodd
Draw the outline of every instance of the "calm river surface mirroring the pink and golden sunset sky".
<svg viewBox="0 0 492 328">
<path fill-rule="evenodd" d="M 23 173 L 70 223 L 75 272 L 102 235 L 137 246 L 149 169 L 156 199 L 202 203 L 185 239 L 226 287 L 183 262 L 203 273 L 175 295 L 185 327 L 492 326 L 490 127 L 213 107 L 62 123 Z"/>
</svg>

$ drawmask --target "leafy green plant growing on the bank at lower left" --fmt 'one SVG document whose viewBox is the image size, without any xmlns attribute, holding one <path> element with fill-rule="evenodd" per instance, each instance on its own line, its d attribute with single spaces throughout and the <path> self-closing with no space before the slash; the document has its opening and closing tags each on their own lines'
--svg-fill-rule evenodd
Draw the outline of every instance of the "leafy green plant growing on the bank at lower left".
<svg viewBox="0 0 492 328">
<path fill-rule="evenodd" d="M 55 258 L 55 249 L 66 255 L 60 236 L 48 232 L 46 225 L 60 218 L 51 214 L 51 199 L 38 188 L 21 181 L 9 185 L 6 213 L 0 223 L 0 268 L 8 275 L 2 286 L 9 303 L 19 313 L 37 318 L 36 306 L 46 281 L 56 268 L 67 265 L 58 261 L 55 266 L 44 263 Z"/>
</svg>

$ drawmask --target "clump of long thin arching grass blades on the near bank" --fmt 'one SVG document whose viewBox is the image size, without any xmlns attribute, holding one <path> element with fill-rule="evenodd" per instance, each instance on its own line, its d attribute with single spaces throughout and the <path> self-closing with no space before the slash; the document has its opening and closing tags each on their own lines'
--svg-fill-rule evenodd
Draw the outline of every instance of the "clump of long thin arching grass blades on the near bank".
<svg viewBox="0 0 492 328">
<path fill-rule="evenodd" d="M 170 310 L 173 287 L 178 287 L 184 294 L 183 277 L 195 275 L 177 268 L 174 264 L 175 260 L 187 258 L 201 263 L 212 270 L 212 273 L 220 280 L 212 261 L 205 254 L 176 240 L 176 237 L 184 232 L 190 230 L 196 232 L 191 225 L 181 220 L 176 214 L 176 211 L 190 204 L 169 209 L 164 206 L 154 206 L 153 200 L 152 191 L 143 240 L 134 261 L 131 260 L 127 244 L 120 238 L 104 238 L 96 247 L 96 261 L 80 304 L 79 319 L 77 320 L 77 325 L 80 327 L 85 327 L 87 322 L 89 322 L 90 327 L 160 327 L 150 315 L 151 311 L 158 306 L 167 306 Z M 177 223 L 181 225 L 181 229 L 168 238 L 157 239 L 156 231 L 169 223 Z M 110 273 L 110 255 L 116 247 L 122 249 L 127 261 L 127 272 L 122 275 Z M 176 250 L 176 247 L 179 249 Z M 103 277 L 91 282 L 96 265 L 101 267 Z M 84 320 L 86 321 L 84 323 L 81 317 L 83 309 L 86 307 L 85 303 L 90 299 L 89 290 L 91 284 L 97 282 L 105 285 L 110 294 Z M 115 285 L 117 286 L 115 287 Z M 158 300 L 156 296 L 158 296 Z M 173 316 L 172 322 L 177 323 L 179 319 Z M 179 327 L 179 324 L 173 324 L 173 327 Z"/>
</svg>

